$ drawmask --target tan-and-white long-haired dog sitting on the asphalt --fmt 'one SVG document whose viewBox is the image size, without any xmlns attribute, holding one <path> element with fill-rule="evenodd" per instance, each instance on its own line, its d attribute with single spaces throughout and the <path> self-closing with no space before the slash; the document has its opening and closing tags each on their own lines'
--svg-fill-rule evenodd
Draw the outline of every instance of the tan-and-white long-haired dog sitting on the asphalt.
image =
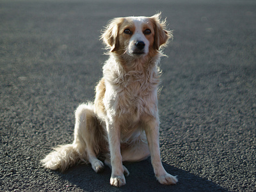
<svg viewBox="0 0 256 192">
<path fill-rule="evenodd" d="M 176 184 L 177 178 L 164 170 L 159 150 L 158 65 L 161 48 L 173 37 L 160 17 L 157 13 L 109 22 L 101 36 L 109 59 L 95 88 L 95 101 L 76 109 L 74 142 L 54 148 L 42 160 L 45 168 L 63 172 L 86 162 L 99 173 L 106 164 L 111 168 L 110 184 L 120 187 L 129 175 L 122 162 L 151 156 L 157 180 Z"/>
</svg>

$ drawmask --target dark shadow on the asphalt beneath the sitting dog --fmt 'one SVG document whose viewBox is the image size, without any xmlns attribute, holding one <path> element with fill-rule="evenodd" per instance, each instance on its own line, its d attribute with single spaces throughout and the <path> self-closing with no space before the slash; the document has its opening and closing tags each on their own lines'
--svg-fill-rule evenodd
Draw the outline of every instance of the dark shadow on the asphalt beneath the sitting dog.
<svg viewBox="0 0 256 192">
<path fill-rule="evenodd" d="M 95 173 L 90 164 L 80 164 L 59 175 L 70 183 L 67 187 L 80 188 L 84 191 L 228 191 L 207 179 L 166 163 L 163 163 L 163 166 L 168 173 L 178 175 L 179 182 L 176 185 L 159 184 L 154 177 L 150 158 L 138 163 L 125 163 L 130 175 L 125 177 L 126 185 L 121 188 L 110 186 L 111 170 L 108 166 L 102 173 Z"/>
</svg>

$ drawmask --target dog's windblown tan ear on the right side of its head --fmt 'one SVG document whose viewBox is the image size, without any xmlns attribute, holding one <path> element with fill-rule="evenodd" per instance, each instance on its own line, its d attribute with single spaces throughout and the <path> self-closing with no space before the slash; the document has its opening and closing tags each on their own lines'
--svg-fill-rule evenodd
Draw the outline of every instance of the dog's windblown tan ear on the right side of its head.
<svg viewBox="0 0 256 192">
<path fill-rule="evenodd" d="M 159 50 L 161 46 L 166 46 L 168 40 L 173 38 L 172 31 L 166 29 L 166 20 L 161 21 L 161 13 L 157 13 L 150 17 L 154 24 L 154 48 Z"/>
</svg>

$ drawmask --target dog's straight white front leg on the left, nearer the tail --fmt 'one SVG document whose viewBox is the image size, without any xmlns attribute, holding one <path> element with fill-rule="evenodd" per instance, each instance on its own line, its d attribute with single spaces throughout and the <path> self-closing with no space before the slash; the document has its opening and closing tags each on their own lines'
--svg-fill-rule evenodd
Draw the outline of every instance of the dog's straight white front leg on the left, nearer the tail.
<svg viewBox="0 0 256 192">
<path fill-rule="evenodd" d="M 109 150 L 111 156 L 112 173 L 110 184 L 120 187 L 125 185 L 124 166 L 120 152 L 120 126 L 117 124 L 107 124 Z"/>
</svg>

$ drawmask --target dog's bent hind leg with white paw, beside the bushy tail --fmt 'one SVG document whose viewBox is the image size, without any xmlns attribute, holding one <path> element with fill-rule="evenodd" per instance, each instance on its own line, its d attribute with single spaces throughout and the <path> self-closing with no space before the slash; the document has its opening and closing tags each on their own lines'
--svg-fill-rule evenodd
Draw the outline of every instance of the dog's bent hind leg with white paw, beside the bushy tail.
<svg viewBox="0 0 256 192">
<path fill-rule="evenodd" d="M 100 152 L 100 142 L 104 140 L 104 136 L 100 135 L 99 129 L 101 127 L 97 121 L 97 116 L 93 111 L 93 104 L 81 104 L 77 108 L 73 144 L 77 148 L 79 148 L 79 145 L 86 146 L 86 160 L 92 164 L 92 168 L 96 173 L 104 169 L 102 161 L 97 159 L 97 155 Z M 81 154 L 84 152 L 81 152 Z"/>
</svg>

